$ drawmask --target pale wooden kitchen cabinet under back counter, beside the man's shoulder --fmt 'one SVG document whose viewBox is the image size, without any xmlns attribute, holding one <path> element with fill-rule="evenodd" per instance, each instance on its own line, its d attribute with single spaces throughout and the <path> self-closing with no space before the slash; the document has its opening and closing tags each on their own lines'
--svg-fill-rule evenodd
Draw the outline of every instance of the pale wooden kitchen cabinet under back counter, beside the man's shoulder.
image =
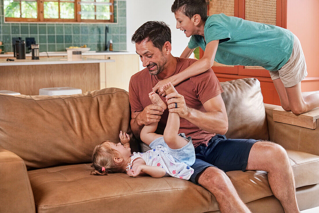
<svg viewBox="0 0 319 213">
<path fill-rule="evenodd" d="M 85 57 L 115 60 L 115 62 L 100 63 L 101 89 L 117 87 L 129 91 L 130 78 L 139 71 L 139 57 L 137 54 Z"/>
</svg>

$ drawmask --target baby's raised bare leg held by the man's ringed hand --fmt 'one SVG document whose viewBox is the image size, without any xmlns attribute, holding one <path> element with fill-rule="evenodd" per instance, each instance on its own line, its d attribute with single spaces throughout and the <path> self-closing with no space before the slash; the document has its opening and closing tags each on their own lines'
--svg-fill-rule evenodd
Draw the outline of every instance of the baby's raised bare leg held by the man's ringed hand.
<svg viewBox="0 0 319 213">
<path fill-rule="evenodd" d="M 165 84 L 163 87 L 165 94 L 177 93 L 176 89 L 171 82 Z M 178 113 L 169 113 L 167 118 L 167 124 L 164 130 L 164 141 L 171 149 L 179 149 L 185 146 L 188 141 L 178 135 L 180 127 L 180 118 Z"/>
</svg>

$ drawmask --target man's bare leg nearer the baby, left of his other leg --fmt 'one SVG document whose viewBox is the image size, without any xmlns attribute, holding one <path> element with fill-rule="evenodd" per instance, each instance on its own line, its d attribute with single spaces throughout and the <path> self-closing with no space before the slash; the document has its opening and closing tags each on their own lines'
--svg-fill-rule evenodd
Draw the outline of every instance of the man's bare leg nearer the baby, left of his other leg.
<svg viewBox="0 0 319 213">
<path fill-rule="evenodd" d="M 224 171 L 213 166 L 207 167 L 197 175 L 197 182 L 215 196 L 220 212 L 251 213 Z"/>
</svg>

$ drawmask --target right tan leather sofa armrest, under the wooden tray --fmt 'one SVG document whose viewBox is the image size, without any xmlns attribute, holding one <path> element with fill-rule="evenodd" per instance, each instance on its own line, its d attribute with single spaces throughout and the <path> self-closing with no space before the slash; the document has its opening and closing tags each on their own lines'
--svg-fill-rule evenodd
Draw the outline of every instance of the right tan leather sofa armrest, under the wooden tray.
<svg viewBox="0 0 319 213">
<path fill-rule="evenodd" d="M 276 108 L 280 106 L 265 103 L 269 140 L 286 149 L 319 155 L 319 119 L 316 120 L 316 129 L 275 122 L 272 110 Z"/>
</svg>

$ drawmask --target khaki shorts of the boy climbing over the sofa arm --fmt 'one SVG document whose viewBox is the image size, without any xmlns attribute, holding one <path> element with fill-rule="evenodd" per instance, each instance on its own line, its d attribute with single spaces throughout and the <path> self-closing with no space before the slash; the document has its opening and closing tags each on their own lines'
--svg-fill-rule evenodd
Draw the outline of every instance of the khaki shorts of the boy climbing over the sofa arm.
<svg viewBox="0 0 319 213">
<path fill-rule="evenodd" d="M 280 78 L 285 87 L 292 87 L 307 76 L 305 56 L 297 36 L 293 35 L 293 52 L 287 63 L 277 71 L 269 71 L 271 79 Z"/>
</svg>

